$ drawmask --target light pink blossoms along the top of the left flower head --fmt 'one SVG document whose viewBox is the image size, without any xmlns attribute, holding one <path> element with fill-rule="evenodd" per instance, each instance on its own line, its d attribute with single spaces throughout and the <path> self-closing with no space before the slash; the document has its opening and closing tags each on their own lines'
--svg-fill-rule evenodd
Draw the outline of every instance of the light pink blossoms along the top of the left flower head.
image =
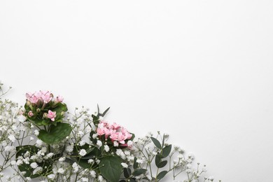
<svg viewBox="0 0 273 182">
<path fill-rule="evenodd" d="M 27 92 L 26 94 L 27 100 L 31 102 L 31 104 L 37 104 L 39 100 L 41 100 L 44 103 L 48 103 L 52 100 L 53 94 L 49 91 L 39 91 L 39 92 Z M 56 102 L 62 102 L 64 98 L 62 96 L 59 96 L 56 98 Z"/>
</svg>

